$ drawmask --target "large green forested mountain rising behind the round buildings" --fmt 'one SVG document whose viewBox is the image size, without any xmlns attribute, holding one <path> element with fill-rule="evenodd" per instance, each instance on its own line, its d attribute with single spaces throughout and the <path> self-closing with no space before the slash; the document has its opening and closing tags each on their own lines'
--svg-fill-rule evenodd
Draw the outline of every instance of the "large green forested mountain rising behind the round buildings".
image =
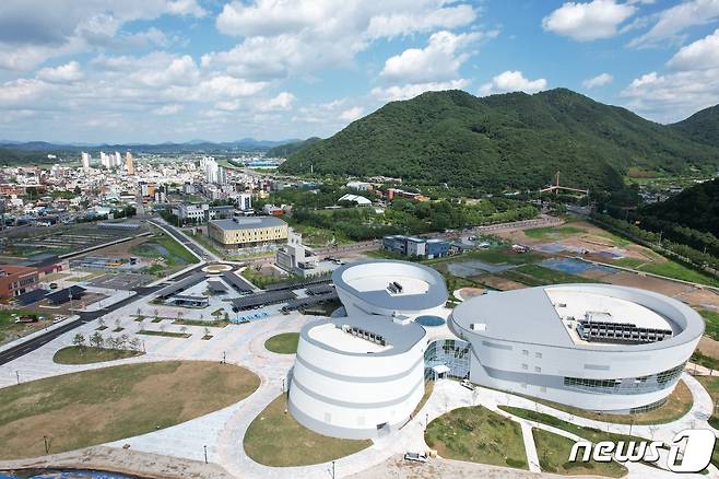
<svg viewBox="0 0 719 479">
<path fill-rule="evenodd" d="M 679 173 L 719 164 L 719 148 L 569 90 L 479 98 L 427 92 L 392 102 L 327 140 L 304 145 L 287 173 L 399 176 L 497 191 L 566 186 L 616 189 L 630 166 Z"/>
</svg>

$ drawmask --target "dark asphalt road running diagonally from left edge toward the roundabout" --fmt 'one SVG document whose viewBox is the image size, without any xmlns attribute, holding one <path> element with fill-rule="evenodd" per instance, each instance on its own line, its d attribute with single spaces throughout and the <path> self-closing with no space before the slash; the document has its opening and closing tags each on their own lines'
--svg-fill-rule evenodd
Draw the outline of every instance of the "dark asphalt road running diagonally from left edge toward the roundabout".
<svg viewBox="0 0 719 479">
<path fill-rule="evenodd" d="M 198 269 L 202 268 L 204 265 L 199 265 L 198 267 L 185 272 L 184 274 L 175 278 L 175 281 L 180 281 L 185 278 L 187 278 L 190 274 L 193 274 L 197 272 Z M 121 300 L 115 304 L 111 304 L 107 307 L 103 307 L 102 309 L 98 311 L 92 311 L 92 312 L 83 312 L 80 313 L 80 318 L 74 319 L 66 325 L 62 325 L 58 328 L 51 329 L 43 335 L 35 336 L 33 338 L 27 339 L 26 341 L 21 342 L 17 346 L 14 346 L 12 348 L 9 348 L 4 351 L 0 351 L 0 365 L 9 363 L 10 361 L 13 361 L 14 359 L 20 358 L 21 355 L 27 354 L 28 352 L 35 351 L 36 349 L 47 344 L 55 338 L 64 335 L 68 331 L 71 331 L 84 324 L 87 324 L 94 319 L 97 319 L 101 316 L 105 316 L 109 313 L 113 313 L 116 309 L 119 309 L 122 306 L 127 306 L 130 303 L 133 303 L 138 300 L 141 300 L 155 291 L 160 290 L 162 287 L 143 287 L 143 288 L 134 288 L 132 291 L 134 291 L 135 294 L 126 297 L 125 300 Z"/>
</svg>

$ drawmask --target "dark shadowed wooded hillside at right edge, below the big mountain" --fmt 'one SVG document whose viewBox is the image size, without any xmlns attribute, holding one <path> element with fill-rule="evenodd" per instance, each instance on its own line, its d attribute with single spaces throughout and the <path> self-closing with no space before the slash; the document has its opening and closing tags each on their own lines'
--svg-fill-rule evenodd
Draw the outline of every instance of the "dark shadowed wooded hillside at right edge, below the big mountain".
<svg viewBox="0 0 719 479">
<path fill-rule="evenodd" d="M 665 201 L 645 207 L 641 213 L 719 236 L 719 178 L 692 186 Z"/>
</svg>

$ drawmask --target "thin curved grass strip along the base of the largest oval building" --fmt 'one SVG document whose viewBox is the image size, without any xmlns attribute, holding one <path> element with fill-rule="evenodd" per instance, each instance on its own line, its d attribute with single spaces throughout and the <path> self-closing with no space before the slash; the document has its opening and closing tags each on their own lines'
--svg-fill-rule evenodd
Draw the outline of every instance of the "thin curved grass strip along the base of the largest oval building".
<svg viewBox="0 0 719 479">
<path fill-rule="evenodd" d="M 661 407 L 635 414 L 608 414 L 605 412 L 593 412 L 586 409 L 573 408 L 557 402 L 533 399 L 554 409 L 577 416 L 579 418 L 592 419 L 594 421 L 615 422 L 618 424 L 665 424 L 685 416 L 694 404 L 692 392 L 683 381 L 676 383 L 676 387 Z"/>
</svg>

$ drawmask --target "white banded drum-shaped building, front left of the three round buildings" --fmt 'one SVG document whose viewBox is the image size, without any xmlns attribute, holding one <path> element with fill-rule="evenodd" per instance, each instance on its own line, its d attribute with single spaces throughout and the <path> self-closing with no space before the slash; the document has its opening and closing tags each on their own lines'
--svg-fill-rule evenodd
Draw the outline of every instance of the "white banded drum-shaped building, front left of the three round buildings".
<svg viewBox="0 0 719 479">
<path fill-rule="evenodd" d="M 288 409 L 306 428 L 377 437 L 403 424 L 424 395 L 425 331 L 389 317 L 308 323 L 299 334 Z"/>
</svg>

